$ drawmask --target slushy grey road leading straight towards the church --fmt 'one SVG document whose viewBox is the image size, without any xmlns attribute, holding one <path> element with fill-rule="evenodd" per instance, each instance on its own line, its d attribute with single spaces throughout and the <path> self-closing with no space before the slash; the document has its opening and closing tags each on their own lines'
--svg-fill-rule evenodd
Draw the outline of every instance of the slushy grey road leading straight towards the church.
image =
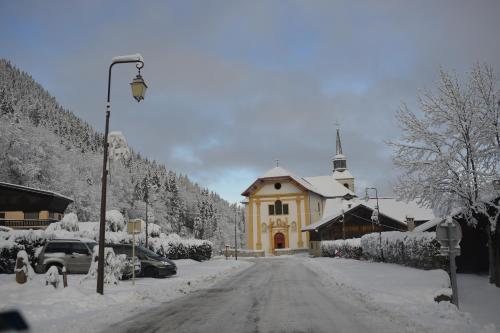
<svg viewBox="0 0 500 333">
<path fill-rule="evenodd" d="M 305 265 L 306 258 L 256 259 L 212 288 L 112 325 L 104 332 L 404 332 Z"/>
</svg>

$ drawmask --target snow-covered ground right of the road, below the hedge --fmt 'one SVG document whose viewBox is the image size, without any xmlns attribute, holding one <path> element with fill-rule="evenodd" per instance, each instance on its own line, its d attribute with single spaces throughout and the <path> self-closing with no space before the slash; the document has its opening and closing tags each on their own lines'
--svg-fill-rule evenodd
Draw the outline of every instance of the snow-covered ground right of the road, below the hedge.
<svg viewBox="0 0 500 333">
<path fill-rule="evenodd" d="M 498 325 L 499 290 L 478 277 L 460 276 L 462 311 L 458 311 L 448 302 L 434 302 L 436 292 L 449 287 L 442 270 L 338 258 L 314 258 L 306 263 L 324 277 L 323 283 L 353 292 L 387 320 L 406 321 L 408 332 L 498 332 L 491 323 Z"/>
</svg>

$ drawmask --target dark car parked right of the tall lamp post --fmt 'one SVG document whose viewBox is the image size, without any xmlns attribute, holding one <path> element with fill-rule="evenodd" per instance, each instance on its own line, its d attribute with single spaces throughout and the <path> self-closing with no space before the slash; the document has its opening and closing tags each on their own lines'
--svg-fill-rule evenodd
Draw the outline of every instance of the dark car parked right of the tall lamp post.
<svg viewBox="0 0 500 333">
<path fill-rule="evenodd" d="M 110 244 L 106 246 L 112 247 L 116 254 L 132 256 L 131 244 Z M 141 261 L 139 276 L 163 278 L 177 274 L 177 266 L 172 260 L 162 257 L 143 246 L 135 246 L 135 256 Z"/>
</svg>

